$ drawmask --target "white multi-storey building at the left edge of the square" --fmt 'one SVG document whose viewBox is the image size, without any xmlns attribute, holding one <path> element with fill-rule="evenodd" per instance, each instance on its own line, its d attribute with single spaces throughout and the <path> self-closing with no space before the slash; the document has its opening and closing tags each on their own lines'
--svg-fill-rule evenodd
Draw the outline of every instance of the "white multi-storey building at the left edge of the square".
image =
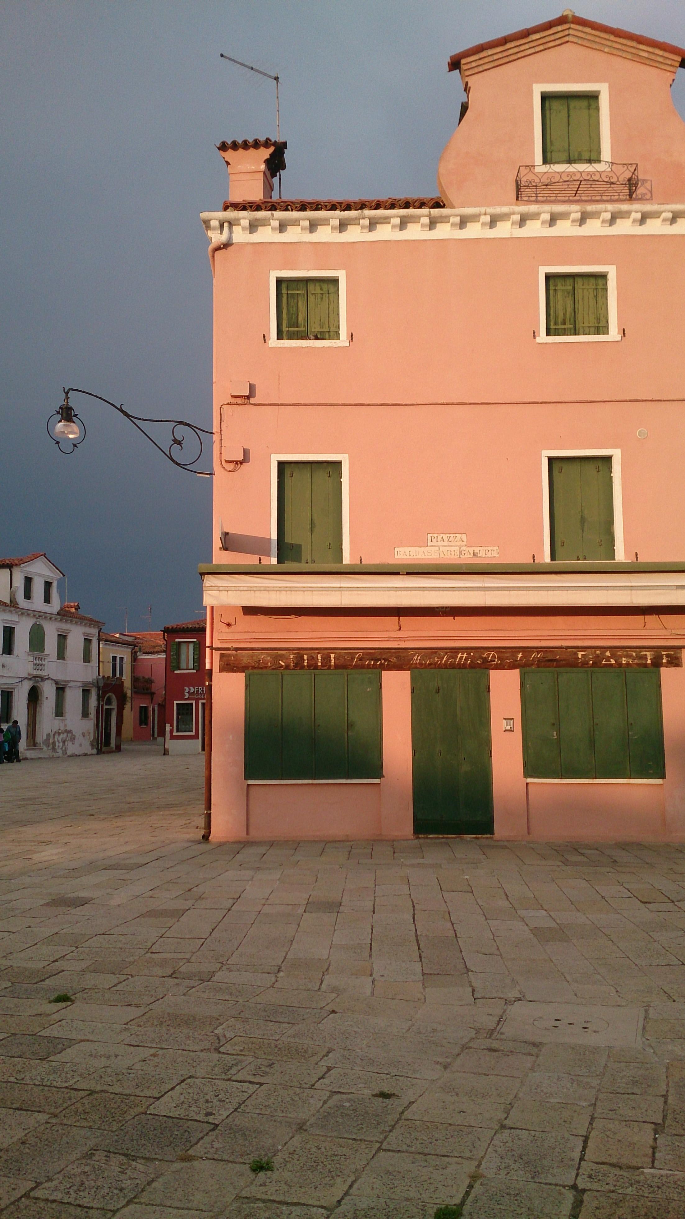
<svg viewBox="0 0 685 1219">
<path fill-rule="evenodd" d="M 95 752 L 102 623 L 61 605 L 45 555 L 0 558 L 0 727 L 20 722 L 22 757 Z"/>
</svg>

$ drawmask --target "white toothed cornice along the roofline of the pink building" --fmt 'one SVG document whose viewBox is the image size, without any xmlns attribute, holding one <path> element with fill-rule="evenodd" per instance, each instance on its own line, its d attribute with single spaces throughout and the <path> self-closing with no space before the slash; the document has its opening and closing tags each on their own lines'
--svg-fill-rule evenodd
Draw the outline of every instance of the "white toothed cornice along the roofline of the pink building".
<svg viewBox="0 0 685 1219">
<path fill-rule="evenodd" d="M 434 241 L 540 236 L 672 236 L 685 204 L 506 204 L 356 212 L 201 212 L 211 243 Z M 306 221 L 306 224 L 302 223 Z"/>
</svg>

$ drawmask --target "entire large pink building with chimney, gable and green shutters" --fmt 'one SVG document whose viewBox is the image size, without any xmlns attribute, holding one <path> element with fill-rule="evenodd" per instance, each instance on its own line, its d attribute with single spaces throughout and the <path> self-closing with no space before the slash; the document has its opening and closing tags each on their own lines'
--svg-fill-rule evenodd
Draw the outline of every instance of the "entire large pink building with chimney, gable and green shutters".
<svg viewBox="0 0 685 1219">
<path fill-rule="evenodd" d="M 213 839 L 685 837 L 684 57 L 452 56 L 433 199 L 219 146 Z"/>
</svg>

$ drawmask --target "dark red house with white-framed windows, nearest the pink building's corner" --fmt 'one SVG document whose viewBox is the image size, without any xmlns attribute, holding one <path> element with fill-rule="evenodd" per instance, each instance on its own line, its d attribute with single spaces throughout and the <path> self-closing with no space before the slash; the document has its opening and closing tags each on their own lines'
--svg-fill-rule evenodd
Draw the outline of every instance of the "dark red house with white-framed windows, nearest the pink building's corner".
<svg viewBox="0 0 685 1219">
<path fill-rule="evenodd" d="M 204 618 L 163 629 L 166 645 L 166 748 L 169 753 L 201 753 L 205 748 Z"/>
</svg>

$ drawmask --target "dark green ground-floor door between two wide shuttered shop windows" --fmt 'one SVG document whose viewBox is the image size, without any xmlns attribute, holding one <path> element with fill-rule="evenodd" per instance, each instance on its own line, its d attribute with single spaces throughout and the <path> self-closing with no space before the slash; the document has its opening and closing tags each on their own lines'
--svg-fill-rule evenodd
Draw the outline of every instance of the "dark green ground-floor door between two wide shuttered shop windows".
<svg viewBox="0 0 685 1219">
<path fill-rule="evenodd" d="M 492 834 L 485 669 L 412 672 L 416 834 Z"/>
</svg>

